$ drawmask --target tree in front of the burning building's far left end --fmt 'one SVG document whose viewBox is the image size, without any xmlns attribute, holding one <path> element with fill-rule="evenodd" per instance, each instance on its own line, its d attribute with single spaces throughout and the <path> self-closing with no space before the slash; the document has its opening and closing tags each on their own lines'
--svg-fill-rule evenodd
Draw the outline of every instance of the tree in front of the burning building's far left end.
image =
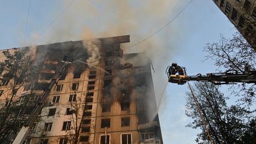
<svg viewBox="0 0 256 144">
<path fill-rule="evenodd" d="M 27 119 L 24 113 L 28 110 L 28 101 L 33 96 L 27 94 L 18 98 L 17 95 L 17 91 L 21 90 L 33 72 L 31 56 L 17 49 L 5 50 L 2 53 L 4 61 L 0 62 L 0 80 L 1 88 L 4 88 L 1 97 L 4 98 L 1 98 L 1 103 L 5 104 L 0 107 L 0 143 L 10 140 L 23 125 Z"/>
</svg>

